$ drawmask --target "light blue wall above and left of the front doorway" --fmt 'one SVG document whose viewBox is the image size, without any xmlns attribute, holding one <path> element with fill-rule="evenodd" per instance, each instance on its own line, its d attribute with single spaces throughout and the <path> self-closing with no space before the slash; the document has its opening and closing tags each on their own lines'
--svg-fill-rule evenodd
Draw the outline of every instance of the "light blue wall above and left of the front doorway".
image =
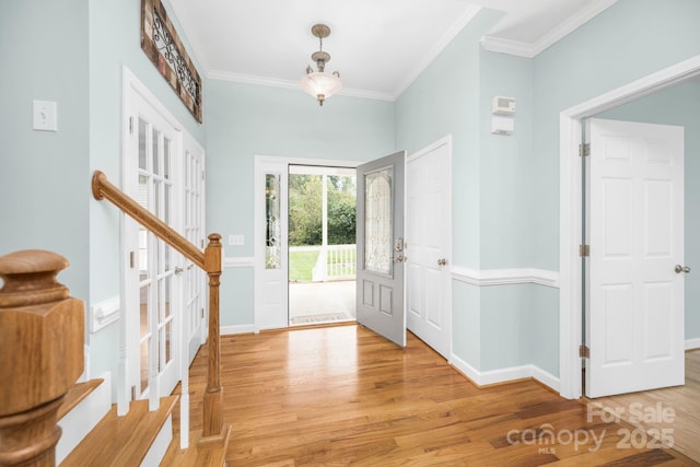
<svg viewBox="0 0 700 467">
<path fill-rule="evenodd" d="M 302 70 L 303 71 L 303 70 Z M 207 230 L 245 235 L 228 257 L 254 254 L 255 155 L 370 161 L 394 152 L 390 102 L 334 96 L 323 107 L 299 90 L 211 80 L 207 119 Z M 223 326 L 252 325 L 253 269 L 226 269 Z"/>
</svg>

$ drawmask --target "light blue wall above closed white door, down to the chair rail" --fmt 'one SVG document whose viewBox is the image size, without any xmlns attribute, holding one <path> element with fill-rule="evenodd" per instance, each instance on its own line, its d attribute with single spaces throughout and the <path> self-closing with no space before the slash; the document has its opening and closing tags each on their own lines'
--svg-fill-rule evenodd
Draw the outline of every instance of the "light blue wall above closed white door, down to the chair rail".
<svg viewBox="0 0 700 467">
<path fill-rule="evenodd" d="M 481 10 L 396 101 L 396 148 L 409 154 L 452 135 L 453 264 L 480 265 L 481 37 L 502 13 Z"/>
</svg>

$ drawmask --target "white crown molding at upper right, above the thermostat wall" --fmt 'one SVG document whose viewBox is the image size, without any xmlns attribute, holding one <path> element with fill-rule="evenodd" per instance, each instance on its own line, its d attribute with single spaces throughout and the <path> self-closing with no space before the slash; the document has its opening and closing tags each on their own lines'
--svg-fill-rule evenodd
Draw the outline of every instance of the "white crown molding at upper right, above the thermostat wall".
<svg viewBox="0 0 700 467">
<path fill-rule="evenodd" d="M 485 50 L 514 55 L 517 57 L 534 58 L 549 47 L 567 37 L 569 34 L 583 26 L 595 16 L 612 7 L 617 0 L 593 0 L 581 10 L 569 16 L 553 30 L 535 40 L 534 44 L 510 40 L 494 36 L 483 36 L 481 46 Z"/>
</svg>

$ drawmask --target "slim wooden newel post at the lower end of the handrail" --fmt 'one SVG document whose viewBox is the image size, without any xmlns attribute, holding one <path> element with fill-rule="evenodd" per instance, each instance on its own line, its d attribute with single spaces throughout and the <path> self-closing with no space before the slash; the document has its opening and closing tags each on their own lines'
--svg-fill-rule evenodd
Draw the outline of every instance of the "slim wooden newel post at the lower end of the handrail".
<svg viewBox="0 0 700 467">
<path fill-rule="evenodd" d="M 209 374 L 203 401 L 202 443 L 218 442 L 226 435 L 223 422 L 221 349 L 219 329 L 219 283 L 221 278 L 221 235 L 210 234 L 205 249 L 205 270 L 209 276 Z"/>
</svg>

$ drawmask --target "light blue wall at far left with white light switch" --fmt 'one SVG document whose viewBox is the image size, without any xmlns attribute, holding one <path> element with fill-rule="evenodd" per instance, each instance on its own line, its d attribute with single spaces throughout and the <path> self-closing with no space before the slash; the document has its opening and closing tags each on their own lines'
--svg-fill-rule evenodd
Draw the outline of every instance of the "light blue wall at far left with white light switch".
<svg viewBox="0 0 700 467">
<path fill-rule="evenodd" d="M 65 256 L 59 280 L 86 300 L 88 0 L 0 2 L 0 255 Z M 34 100 L 57 103 L 57 132 L 32 129 Z"/>
</svg>

